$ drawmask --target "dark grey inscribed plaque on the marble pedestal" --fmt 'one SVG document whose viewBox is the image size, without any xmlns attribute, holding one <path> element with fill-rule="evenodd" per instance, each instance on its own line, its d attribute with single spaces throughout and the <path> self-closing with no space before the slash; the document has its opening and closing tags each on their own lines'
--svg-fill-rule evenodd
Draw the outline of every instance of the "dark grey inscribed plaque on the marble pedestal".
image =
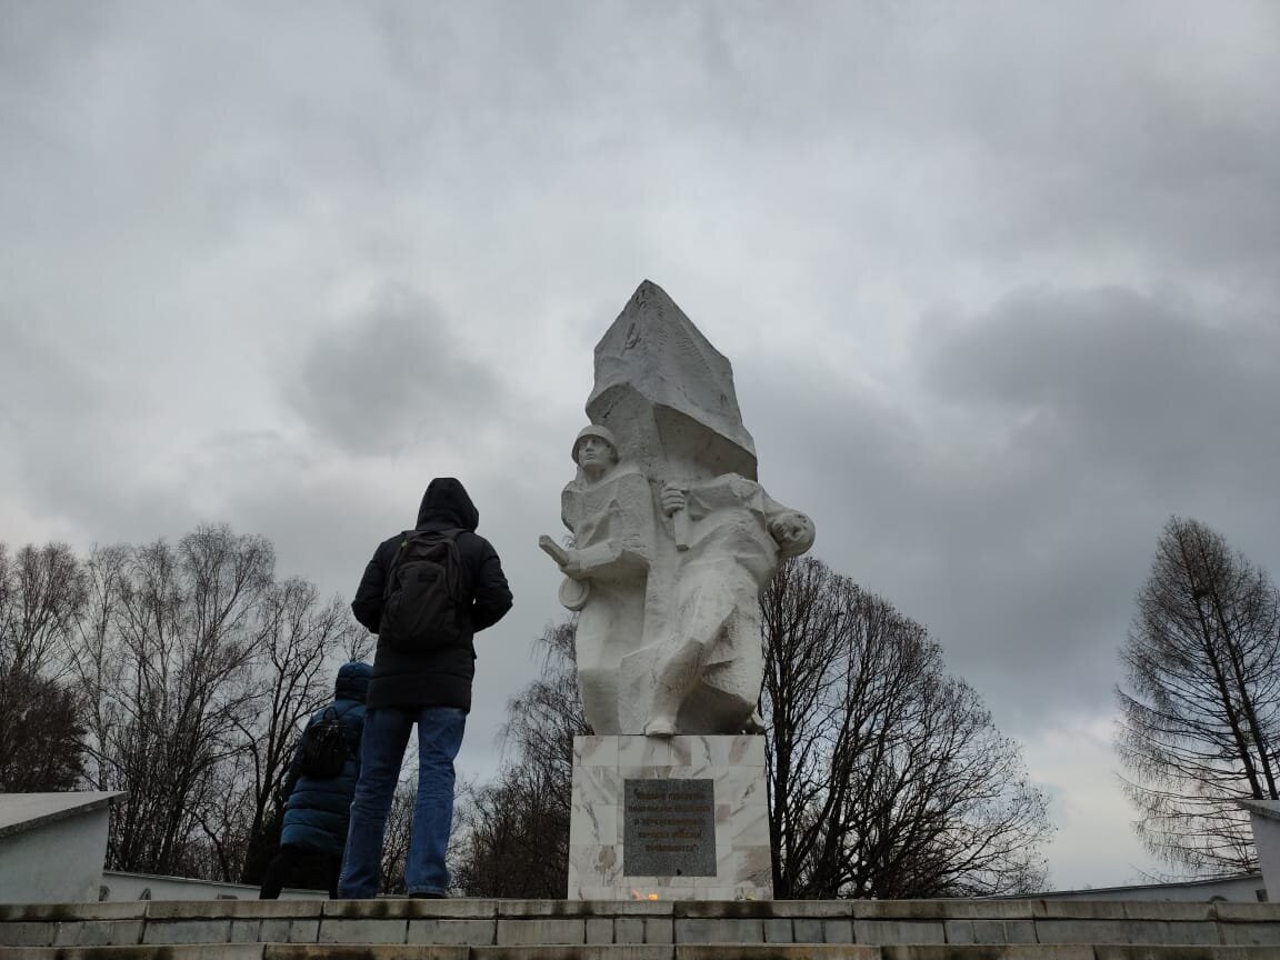
<svg viewBox="0 0 1280 960">
<path fill-rule="evenodd" d="M 623 876 L 714 877 L 714 785 L 713 780 L 626 781 Z"/>
</svg>

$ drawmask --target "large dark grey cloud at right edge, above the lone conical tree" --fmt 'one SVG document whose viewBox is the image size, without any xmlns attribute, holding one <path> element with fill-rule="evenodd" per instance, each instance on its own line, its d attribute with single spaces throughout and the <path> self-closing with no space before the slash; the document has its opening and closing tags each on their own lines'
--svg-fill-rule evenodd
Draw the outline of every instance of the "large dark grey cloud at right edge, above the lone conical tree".
<svg viewBox="0 0 1280 960">
<path fill-rule="evenodd" d="M 934 329 L 920 378 L 1006 424 L 1027 461 L 1171 495 L 1261 492 L 1280 456 L 1280 316 L 1197 311 L 1123 288 L 1021 291 Z"/>
</svg>

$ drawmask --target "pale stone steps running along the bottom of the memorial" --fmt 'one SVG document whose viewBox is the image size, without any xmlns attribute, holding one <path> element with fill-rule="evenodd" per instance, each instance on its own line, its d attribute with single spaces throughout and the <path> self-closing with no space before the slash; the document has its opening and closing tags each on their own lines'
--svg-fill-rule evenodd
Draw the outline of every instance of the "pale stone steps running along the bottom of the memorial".
<svg viewBox="0 0 1280 960">
<path fill-rule="evenodd" d="M 1280 960 L 1280 904 L 0 904 L 0 960 Z"/>
</svg>

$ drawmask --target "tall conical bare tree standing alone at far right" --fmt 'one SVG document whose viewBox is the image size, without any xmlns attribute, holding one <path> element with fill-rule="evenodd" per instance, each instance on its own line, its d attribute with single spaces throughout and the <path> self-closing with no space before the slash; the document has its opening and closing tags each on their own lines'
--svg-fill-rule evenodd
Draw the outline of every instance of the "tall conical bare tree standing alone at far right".
<svg viewBox="0 0 1280 960">
<path fill-rule="evenodd" d="M 1172 517 L 1120 650 L 1116 749 L 1138 836 L 1175 868 L 1257 869 L 1240 797 L 1280 799 L 1280 593 L 1196 520 Z"/>
</svg>

